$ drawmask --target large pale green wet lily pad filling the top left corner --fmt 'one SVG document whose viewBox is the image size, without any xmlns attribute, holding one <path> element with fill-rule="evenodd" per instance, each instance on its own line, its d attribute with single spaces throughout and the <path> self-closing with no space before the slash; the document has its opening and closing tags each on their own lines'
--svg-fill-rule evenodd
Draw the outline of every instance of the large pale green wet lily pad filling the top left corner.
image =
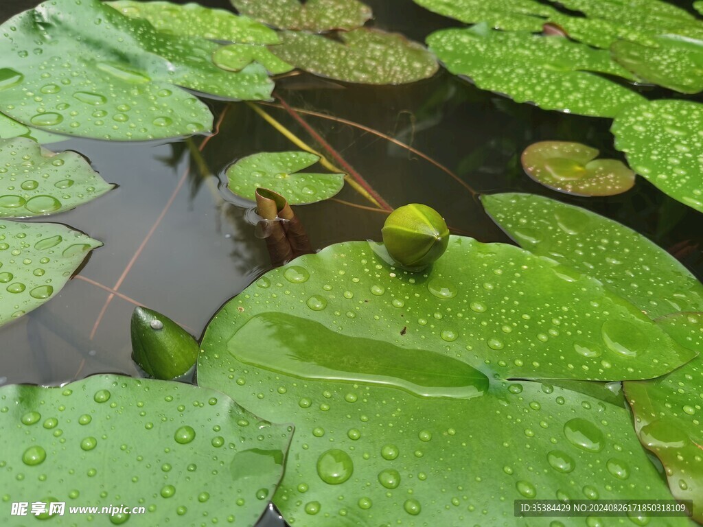
<svg viewBox="0 0 703 527">
<path fill-rule="evenodd" d="M 218 44 L 157 32 L 99 0 L 53 0 L 0 26 L 0 110 L 27 125 L 115 141 L 208 131 L 207 106 L 177 86 L 268 99 L 259 65 L 221 70 Z"/>
</svg>

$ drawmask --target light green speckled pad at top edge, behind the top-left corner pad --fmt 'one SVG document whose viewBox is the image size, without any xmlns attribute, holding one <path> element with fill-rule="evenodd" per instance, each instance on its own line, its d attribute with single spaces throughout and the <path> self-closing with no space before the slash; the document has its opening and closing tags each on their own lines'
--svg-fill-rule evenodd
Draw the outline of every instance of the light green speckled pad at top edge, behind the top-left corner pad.
<svg viewBox="0 0 703 527">
<path fill-rule="evenodd" d="M 278 44 L 280 41 L 270 27 L 224 9 L 194 3 L 181 6 L 165 1 L 117 0 L 106 4 L 129 18 L 147 20 L 164 33 L 240 44 Z"/>
</svg>

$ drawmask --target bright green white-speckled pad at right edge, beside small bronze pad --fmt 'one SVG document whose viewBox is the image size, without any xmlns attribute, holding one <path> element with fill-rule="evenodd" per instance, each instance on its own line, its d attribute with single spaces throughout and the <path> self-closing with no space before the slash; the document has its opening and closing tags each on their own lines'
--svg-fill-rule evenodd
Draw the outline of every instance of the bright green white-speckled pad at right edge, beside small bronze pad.
<svg viewBox="0 0 703 527">
<path fill-rule="evenodd" d="M 624 108 L 610 131 L 634 171 L 674 200 L 703 212 L 702 129 L 703 105 L 652 100 Z"/>
</svg>

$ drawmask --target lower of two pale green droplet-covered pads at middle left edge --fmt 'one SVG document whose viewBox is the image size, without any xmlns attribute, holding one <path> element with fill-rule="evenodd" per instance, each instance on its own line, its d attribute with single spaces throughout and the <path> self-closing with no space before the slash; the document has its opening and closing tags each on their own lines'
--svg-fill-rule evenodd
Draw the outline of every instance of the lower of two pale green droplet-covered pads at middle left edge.
<svg viewBox="0 0 703 527">
<path fill-rule="evenodd" d="M 0 325 L 54 297 L 101 245 L 56 223 L 0 219 Z"/>
</svg>

